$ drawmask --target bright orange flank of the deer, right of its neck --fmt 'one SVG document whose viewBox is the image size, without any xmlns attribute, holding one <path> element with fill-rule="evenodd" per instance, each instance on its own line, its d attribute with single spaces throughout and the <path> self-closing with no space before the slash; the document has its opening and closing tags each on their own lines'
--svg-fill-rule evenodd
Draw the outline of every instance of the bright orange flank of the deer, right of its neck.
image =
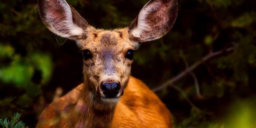
<svg viewBox="0 0 256 128">
<path fill-rule="evenodd" d="M 141 80 L 131 77 L 112 124 L 113 128 L 172 128 L 172 118 L 158 96 Z"/>
</svg>

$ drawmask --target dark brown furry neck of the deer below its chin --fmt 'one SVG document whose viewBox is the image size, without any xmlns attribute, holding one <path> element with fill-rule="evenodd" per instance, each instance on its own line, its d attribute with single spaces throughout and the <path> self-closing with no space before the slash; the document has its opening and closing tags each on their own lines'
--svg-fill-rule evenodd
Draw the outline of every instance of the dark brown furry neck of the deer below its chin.
<svg viewBox="0 0 256 128">
<path fill-rule="evenodd" d="M 94 93 L 89 82 L 84 87 L 77 100 L 74 113 L 79 117 L 77 127 L 83 128 L 111 128 L 116 103 L 108 103 Z"/>
</svg>

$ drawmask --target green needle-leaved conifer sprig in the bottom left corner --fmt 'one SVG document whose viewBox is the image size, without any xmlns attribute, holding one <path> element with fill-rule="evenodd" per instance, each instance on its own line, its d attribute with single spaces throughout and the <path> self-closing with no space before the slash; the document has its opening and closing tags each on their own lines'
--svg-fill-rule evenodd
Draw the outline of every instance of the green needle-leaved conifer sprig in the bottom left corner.
<svg viewBox="0 0 256 128">
<path fill-rule="evenodd" d="M 20 121 L 20 114 L 18 113 L 14 114 L 14 116 L 11 118 L 11 121 L 9 121 L 7 118 L 1 118 L 0 126 L 2 126 L 2 128 L 28 128 L 25 126 L 25 123 Z"/>
</svg>

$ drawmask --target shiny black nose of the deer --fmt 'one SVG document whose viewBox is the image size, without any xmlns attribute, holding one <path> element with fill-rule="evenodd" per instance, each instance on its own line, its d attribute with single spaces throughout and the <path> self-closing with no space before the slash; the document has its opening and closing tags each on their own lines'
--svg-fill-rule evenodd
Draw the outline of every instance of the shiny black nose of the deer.
<svg viewBox="0 0 256 128">
<path fill-rule="evenodd" d="M 106 98 L 115 98 L 120 90 L 119 83 L 102 83 L 101 85 L 102 93 L 105 95 Z"/>
</svg>

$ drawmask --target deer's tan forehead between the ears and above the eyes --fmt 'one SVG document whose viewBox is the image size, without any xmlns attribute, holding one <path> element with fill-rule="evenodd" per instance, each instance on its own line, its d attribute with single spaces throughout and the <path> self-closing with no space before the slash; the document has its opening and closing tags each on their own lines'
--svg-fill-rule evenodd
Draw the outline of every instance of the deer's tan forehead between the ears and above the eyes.
<svg viewBox="0 0 256 128">
<path fill-rule="evenodd" d="M 115 50 L 120 51 L 122 49 L 133 49 L 138 48 L 138 44 L 130 40 L 128 30 L 125 29 L 114 29 L 114 30 L 103 30 L 89 28 L 87 29 L 87 37 L 85 40 L 80 40 L 81 49 L 90 49 L 94 51 L 102 50 Z"/>
</svg>

